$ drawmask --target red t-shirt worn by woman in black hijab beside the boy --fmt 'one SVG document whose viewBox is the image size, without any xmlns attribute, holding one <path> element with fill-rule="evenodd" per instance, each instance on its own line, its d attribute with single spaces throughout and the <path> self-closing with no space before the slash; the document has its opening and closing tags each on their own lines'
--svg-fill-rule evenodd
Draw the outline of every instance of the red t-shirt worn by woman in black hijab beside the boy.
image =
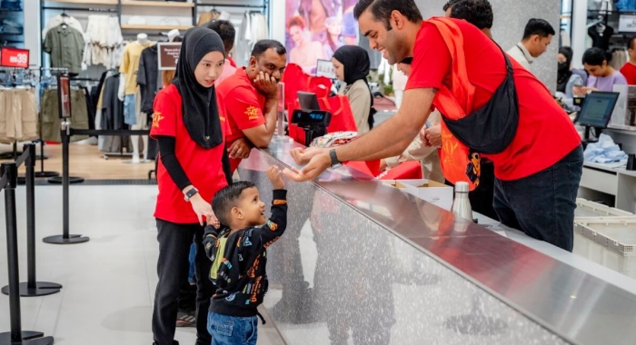
<svg viewBox="0 0 636 345">
<path fill-rule="evenodd" d="M 222 107 L 219 107 L 222 109 Z M 227 122 L 223 112 L 219 112 L 223 133 L 227 133 Z M 214 194 L 227 186 L 223 172 L 224 143 L 206 150 L 192 140 L 184 124 L 182 98 L 174 84 L 166 86 L 154 99 L 153 124 L 150 135 L 174 136 L 176 159 L 184 168 L 192 185 L 199 190 L 205 201 L 212 202 Z M 157 165 L 159 195 L 154 217 L 179 224 L 198 223 L 190 202 L 184 201 L 182 192 L 168 172 L 164 163 Z"/>
</svg>

